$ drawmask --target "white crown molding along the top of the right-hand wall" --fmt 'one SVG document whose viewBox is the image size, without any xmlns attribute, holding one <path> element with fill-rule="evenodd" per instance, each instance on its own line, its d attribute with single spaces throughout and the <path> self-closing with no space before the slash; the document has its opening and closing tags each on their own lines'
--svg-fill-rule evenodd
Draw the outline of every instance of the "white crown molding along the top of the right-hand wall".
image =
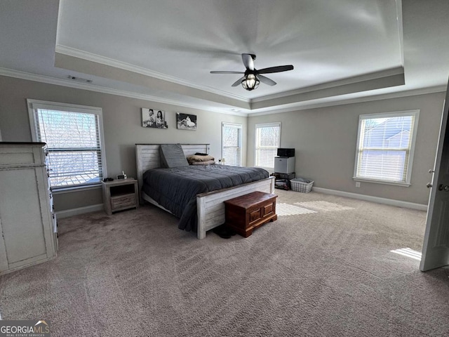
<svg viewBox="0 0 449 337">
<path fill-rule="evenodd" d="M 253 112 L 248 114 L 248 117 L 264 116 L 267 114 L 283 114 L 284 112 L 300 111 L 317 109 L 320 107 L 335 107 L 336 105 L 347 105 L 356 103 L 372 102 L 375 100 L 389 100 L 391 98 L 402 98 L 415 95 L 427 95 L 429 93 L 444 93 L 446 91 L 446 86 L 431 86 L 429 88 L 413 89 L 408 91 L 398 91 L 396 93 L 382 93 L 380 95 L 363 96 L 359 98 L 350 98 L 346 100 L 333 100 L 331 102 L 325 103 L 310 103 L 307 105 L 298 105 L 296 107 L 286 107 L 279 110 L 270 110 L 264 112 Z"/>
</svg>

